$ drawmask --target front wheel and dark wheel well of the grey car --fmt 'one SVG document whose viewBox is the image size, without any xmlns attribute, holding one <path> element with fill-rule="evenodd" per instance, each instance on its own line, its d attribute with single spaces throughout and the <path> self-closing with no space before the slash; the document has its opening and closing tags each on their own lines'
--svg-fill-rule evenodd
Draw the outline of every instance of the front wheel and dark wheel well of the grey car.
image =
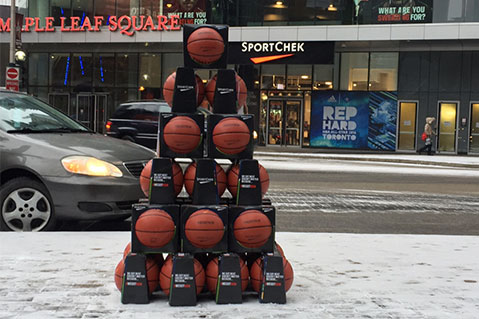
<svg viewBox="0 0 479 319">
<path fill-rule="evenodd" d="M 0 226 L 8 231 L 44 231 L 55 227 L 54 206 L 46 187 L 27 177 L 0 189 Z"/>
</svg>

